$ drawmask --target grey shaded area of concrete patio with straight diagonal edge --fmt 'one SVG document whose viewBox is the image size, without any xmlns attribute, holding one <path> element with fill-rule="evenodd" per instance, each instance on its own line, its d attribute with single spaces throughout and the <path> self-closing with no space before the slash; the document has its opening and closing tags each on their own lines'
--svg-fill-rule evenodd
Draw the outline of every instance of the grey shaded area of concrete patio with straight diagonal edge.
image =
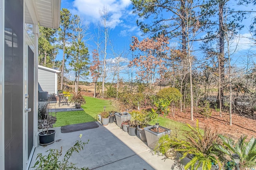
<svg viewBox="0 0 256 170">
<path fill-rule="evenodd" d="M 97 122 L 98 123 L 98 122 Z M 36 162 L 38 153 L 46 154 L 48 149 L 60 149 L 66 152 L 79 140 L 79 135 L 83 134 L 82 140 L 90 140 L 79 153 L 74 152 L 70 162 L 75 163 L 78 167 L 88 167 L 90 170 L 154 170 L 150 164 L 140 158 L 134 151 L 114 136 L 108 129 L 100 123 L 98 128 L 76 131 L 72 133 L 60 133 L 60 127 L 53 128 L 56 130 L 55 140 L 51 145 L 46 147 L 38 146 L 35 149 L 31 166 Z M 30 168 L 32 169 L 32 168 Z"/>
</svg>

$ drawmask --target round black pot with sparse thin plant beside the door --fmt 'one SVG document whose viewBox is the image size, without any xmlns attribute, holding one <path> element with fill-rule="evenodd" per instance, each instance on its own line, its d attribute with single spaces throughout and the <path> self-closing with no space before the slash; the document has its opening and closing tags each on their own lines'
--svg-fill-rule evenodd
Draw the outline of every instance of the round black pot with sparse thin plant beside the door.
<svg viewBox="0 0 256 170">
<path fill-rule="evenodd" d="M 49 130 L 49 128 L 55 123 L 56 115 L 55 117 L 49 115 L 49 108 L 49 102 L 43 102 L 38 105 L 38 127 L 42 129 L 42 132 L 38 134 L 39 145 L 50 145 L 55 140 L 55 131 Z"/>
</svg>

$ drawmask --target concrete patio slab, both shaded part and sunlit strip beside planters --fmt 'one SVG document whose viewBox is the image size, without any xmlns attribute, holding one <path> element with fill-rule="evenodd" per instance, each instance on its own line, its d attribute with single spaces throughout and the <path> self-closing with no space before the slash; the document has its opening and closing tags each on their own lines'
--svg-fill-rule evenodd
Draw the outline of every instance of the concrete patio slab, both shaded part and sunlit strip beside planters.
<svg viewBox="0 0 256 170">
<path fill-rule="evenodd" d="M 55 140 L 58 142 L 47 147 L 36 147 L 30 167 L 36 162 L 38 153 L 44 154 L 48 149 L 60 149 L 61 146 L 63 152 L 66 152 L 76 140 L 80 139 L 79 135 L 83 134 L 82 140 L 86 142 L 89 139 L 89 143 L 85 145 L 84 150 L 79 153 L 74 152 L 70 158 L 70 162 L 76 163 L 78 167 L 86 166 L 90 170 L 184 169 L 176 160 L 154 154 L 139 137 L 130 136 L 115 123 L 107 126 L 102 126 L 98 121 L 97 123 L 98 128 L 72 133 L 60 133 L 60 127 L 52 128 L 56 130 Z"/>
</svg>

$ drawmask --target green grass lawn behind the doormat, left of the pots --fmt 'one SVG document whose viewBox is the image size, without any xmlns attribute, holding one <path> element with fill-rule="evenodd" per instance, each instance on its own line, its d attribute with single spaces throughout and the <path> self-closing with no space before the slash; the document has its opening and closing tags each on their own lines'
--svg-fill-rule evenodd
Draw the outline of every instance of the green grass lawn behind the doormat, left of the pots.
<svg viewBox="0 0 256 170">
<path fill-rule="evenodd" d="M 86 104 L 82 106 L 84 111 L 58 112 L 54 127 L 96 121 L 98 114 L 104 111 L 104 106 L 106 106 L 106 111 L 114 110 L 114 107 L 109 104 L 109 100 L 88 96 L 84 96 L 84 98 L 86 100 Z"/>
</svg>

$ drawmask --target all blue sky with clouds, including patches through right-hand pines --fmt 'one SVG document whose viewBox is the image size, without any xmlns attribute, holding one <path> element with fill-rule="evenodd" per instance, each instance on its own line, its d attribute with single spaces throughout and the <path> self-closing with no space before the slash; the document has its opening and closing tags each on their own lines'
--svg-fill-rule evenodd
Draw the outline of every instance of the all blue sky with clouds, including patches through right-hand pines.
<svg viewBox="0 0 256 170">
<path fill-rule="evenodd" d="M 231 0 L 229 2 L 230 6 L 234 5 L 234 1 Z M 61 8 L 67 8 L 70 10 L 71 14 L 78 14 L 84 21 L 85 24 L 88 25 L 88 33 L 90 34 L 90 40 L 86 41 L 87 46 L 89 48 L 90 57 L 92 57 L 91 52 L 96 48 L 96 45 L 93 41 L 96 36 L 97 26 L 100 24 L 100 10 L 106 7 L 111 14 L 110 17 L 110 39 L 114 50 L 117 53 L 121 51 L 125 51 L 123 54 L 124 58 L 130 59 L 129 45 L 131 43 L 131 37 L 137 36 L 140 37 L 142 32 L 139 27 L 136 25 L 136 20 L 139 19 L 137 14 L 132 13 L 132 3 L 130 0 L 62 0 Z M 237 8 L 235 6 L 235 8 Z M 239 9 L 250 10 L 250 6 L 248 7 L 239 7 Z M 248 9 L 247 9 L 248 8 Z M 254 17 L 255 14 L 252 14 L 249 19 L 244 20 L 243 23 L 246 25 L 244 29 L 240 32 L 241 37 L 234 38 L 232 43 L 232 48 L 236 47 L 238 44 L 238 50 L 234 54 L 234 61 L 236 61 L 236 65 L 241 64 L 246 60 L 248 50 L 255 51 L 255 44 L 253 41 L 245 38 L 251 37 L 251 34 L 248 31 L 249 23 L 251 22 L 251 18 Z M 89 38 L 88 37 L 88 38 Z M 142 38 L 142 37 L 140 37 Z M 194 44 L 194 48 L 197 48 L 200 43 L 197 42 Z M 252 47 L 252 45 L 254 47 Z M 114 55 L 110 50 L 110 45 L 108 46 L 108 59 L 112 59 L 114 62 Z M 231 48 L 231 49 L 232 49 Z M 202 51 L 198 51 L 201 54 L 194 55 L 202 55 Z M 239 59 L 238 59 L 239 57 Z M 58 60 L 62 59 L 62 53 L 60 51 L 60 55 L 57 57 Z M 239 62 L 238 62 L 239 61 Z M 123 74 L 124 75 L 124 74 Z M 111 80 L 111 78 L 109 78 Z"/>
</svg>

